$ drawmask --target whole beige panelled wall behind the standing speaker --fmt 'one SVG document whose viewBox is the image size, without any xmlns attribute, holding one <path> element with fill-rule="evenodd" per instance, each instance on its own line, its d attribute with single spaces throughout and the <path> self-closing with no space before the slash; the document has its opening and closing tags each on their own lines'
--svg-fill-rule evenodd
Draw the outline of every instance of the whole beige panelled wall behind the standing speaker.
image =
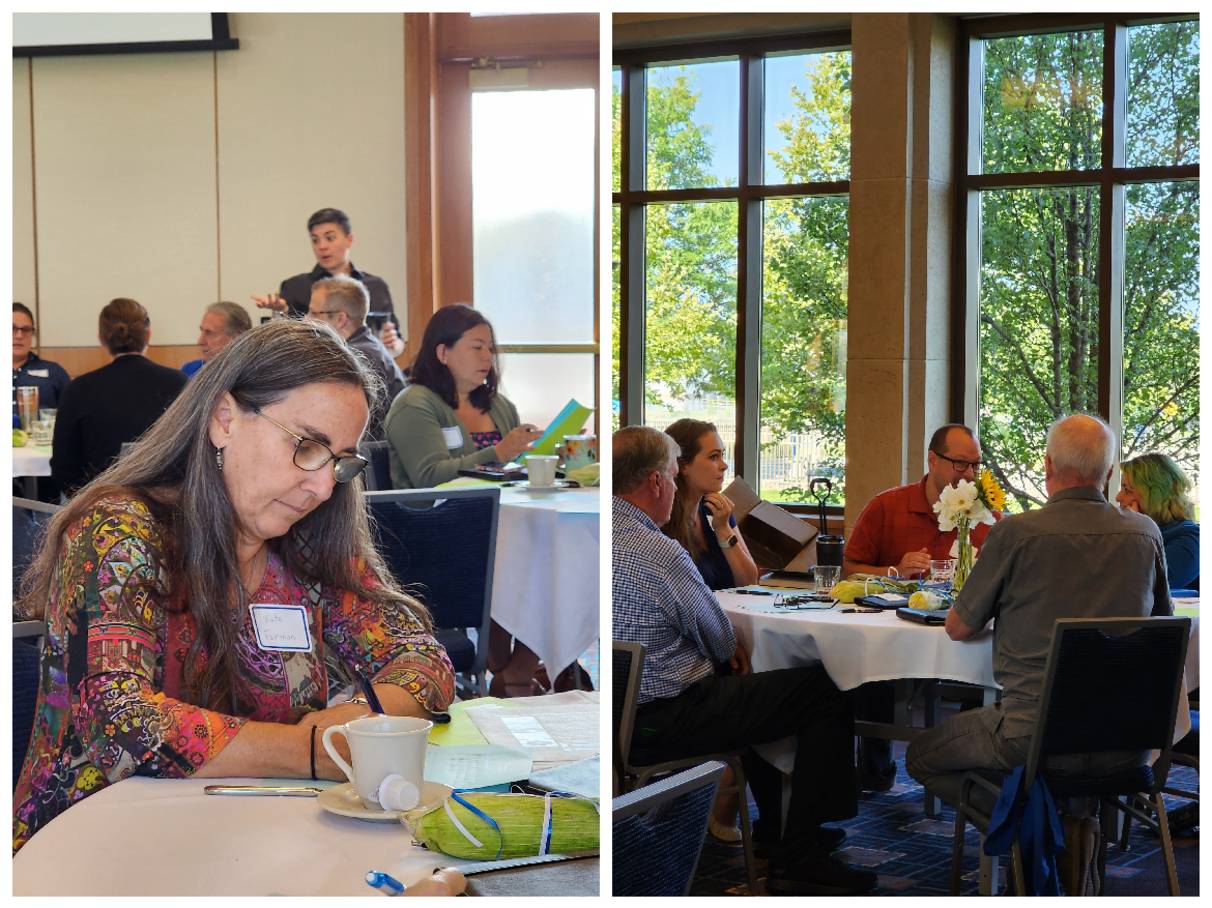
<svg viewBox="0 0 1212 908">
<path fill-rule="evenodd" d="M 97 312 L 130 296 L 185 358 L 206 303 L 256 319 L 250 293 L 311 268 L 326 206 L 402 316 L 404 16 L 231 30 L 238 51 L 13 61 L 13 298 L 42 348 L 95 347 Z"/>
</svg>

